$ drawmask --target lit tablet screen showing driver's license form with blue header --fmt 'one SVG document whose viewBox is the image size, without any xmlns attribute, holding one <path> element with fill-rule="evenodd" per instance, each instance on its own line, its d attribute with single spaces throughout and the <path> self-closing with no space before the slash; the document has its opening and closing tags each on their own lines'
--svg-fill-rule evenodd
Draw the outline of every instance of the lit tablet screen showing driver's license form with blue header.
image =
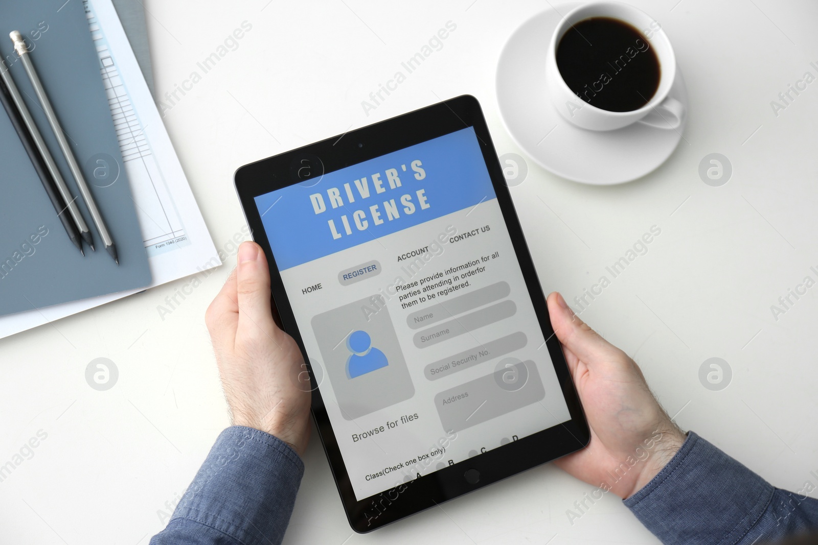
<svg viewBox="0 0 818 545">
<path fill-rule="evenodd" d="M 358 500 L 571 419 L 472 127 L 255 203 Z"/>
</svg>

